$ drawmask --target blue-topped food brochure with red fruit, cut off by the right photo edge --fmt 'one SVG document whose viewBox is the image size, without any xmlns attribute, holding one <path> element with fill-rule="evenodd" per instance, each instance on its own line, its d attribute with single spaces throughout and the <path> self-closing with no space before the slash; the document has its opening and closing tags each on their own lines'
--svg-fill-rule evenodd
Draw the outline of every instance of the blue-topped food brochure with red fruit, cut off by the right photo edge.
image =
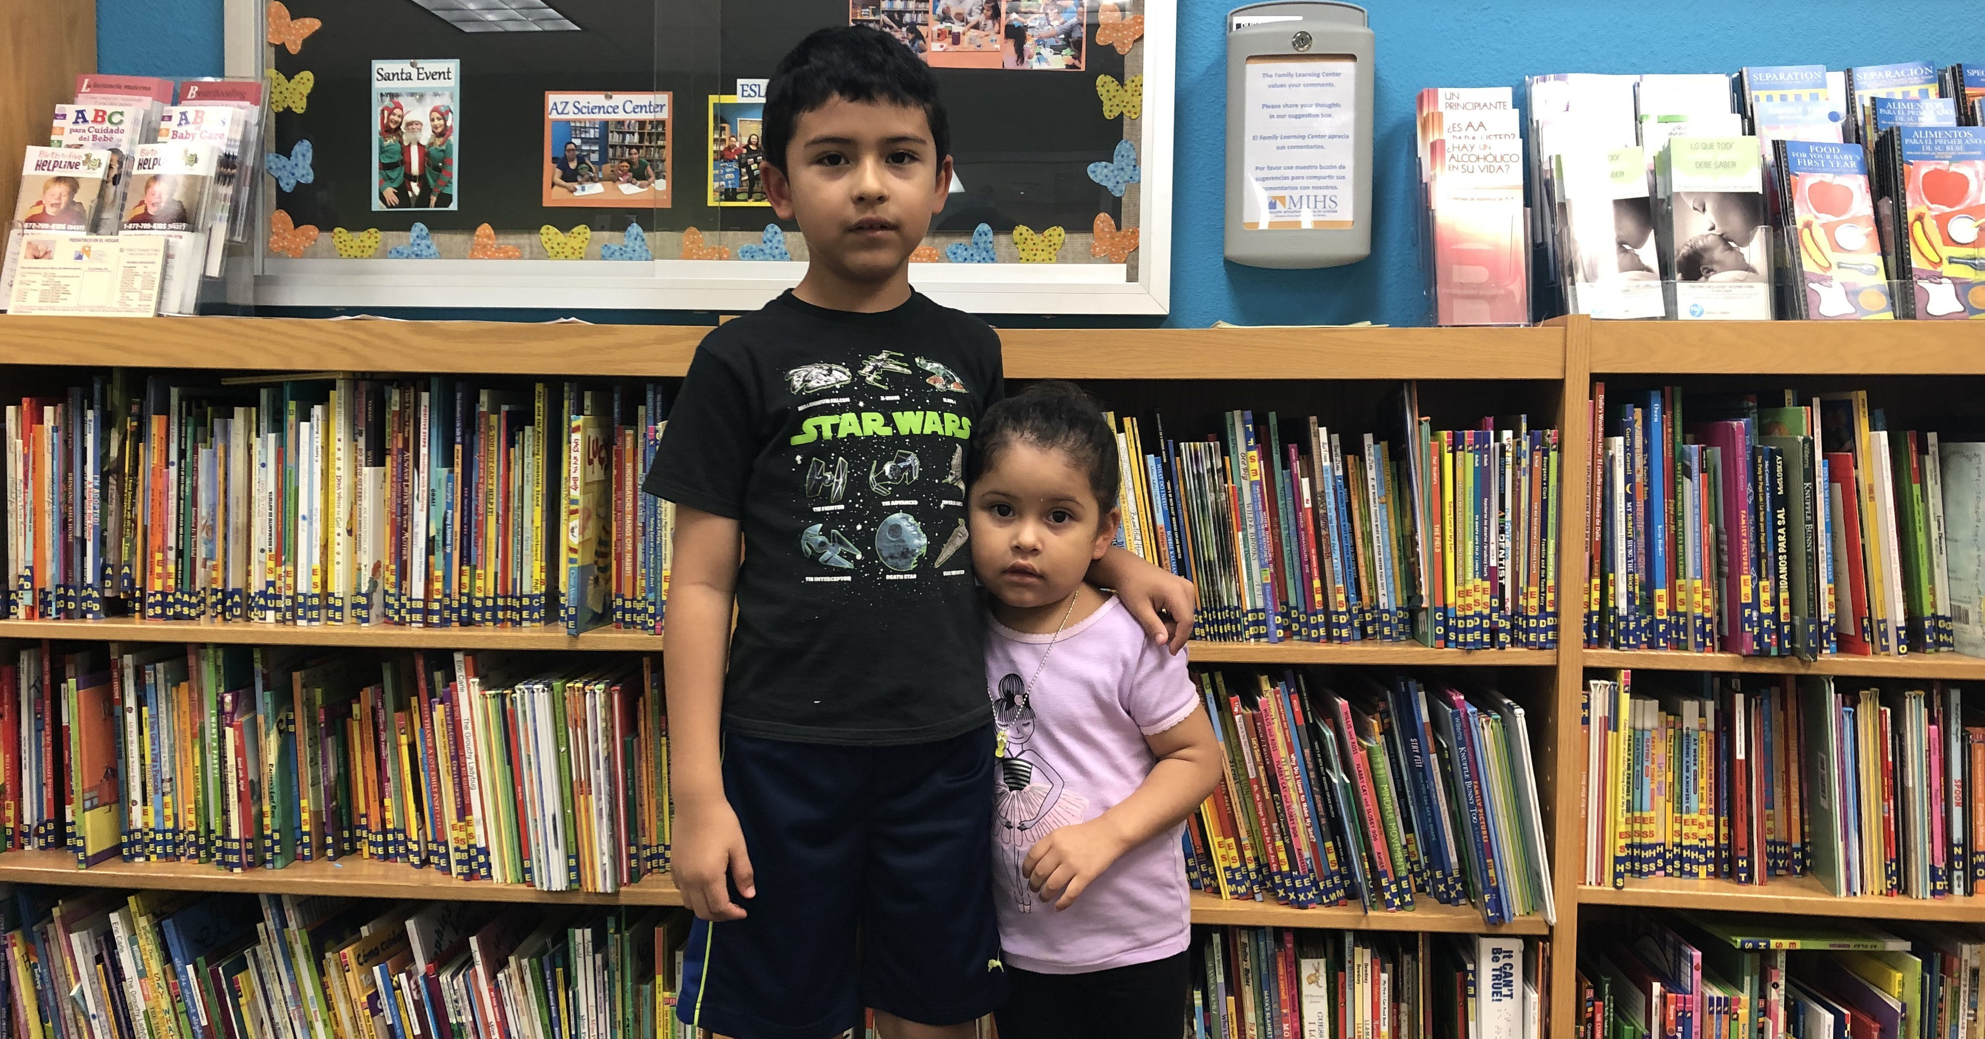
<svg viewBox="0 0 1985 1039">
<path fill-rule="evenodd" d="M 1896 127 L 1876 145 L 1890 264 L 1914 291 L 1902 317 L 1985 319 L 1985 127 Z"/>
</svg>

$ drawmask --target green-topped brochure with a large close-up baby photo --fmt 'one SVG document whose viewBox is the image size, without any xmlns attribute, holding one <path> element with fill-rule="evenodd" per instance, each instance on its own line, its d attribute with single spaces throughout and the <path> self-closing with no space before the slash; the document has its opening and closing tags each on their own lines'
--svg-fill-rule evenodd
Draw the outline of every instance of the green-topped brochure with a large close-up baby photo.
<svg viewBox="0 0 1985 1039">
<path fill-rule="evenodd" d="M 1757 137 L 1671 137 L 1655 165 L 1671 317 L 1771 319 L 1771 224 Z"/>
</svg>

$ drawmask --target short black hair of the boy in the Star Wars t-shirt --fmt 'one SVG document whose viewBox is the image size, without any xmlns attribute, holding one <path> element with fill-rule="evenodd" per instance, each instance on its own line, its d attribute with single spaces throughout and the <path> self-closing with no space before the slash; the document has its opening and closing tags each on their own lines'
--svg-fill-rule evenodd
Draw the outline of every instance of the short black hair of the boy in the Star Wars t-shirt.
<svg viewBox="0 0 1985 1039">
<path fill-rule="evenodd" d="M 836 97 L 923 109 L 937 157 L 951 155 L 951 121 L 931 67 L 885 32 L 840 26 L 812 32 L 780 58 L 764 91 L 764 125 L 758 127 L 764 161 L 784 173 L 786 147 L 800 115 Z"/>
</svg>

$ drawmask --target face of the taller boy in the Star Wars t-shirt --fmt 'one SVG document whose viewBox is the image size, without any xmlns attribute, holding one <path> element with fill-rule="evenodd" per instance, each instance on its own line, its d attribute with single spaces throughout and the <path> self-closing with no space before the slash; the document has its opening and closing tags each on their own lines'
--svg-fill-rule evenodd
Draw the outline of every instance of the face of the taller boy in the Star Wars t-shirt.
<svg viewBox="0 0 1985 1039">
<path fill-rule="evenodd" d="M 834 97 L 802 113 L 764 192 L 806 234 L 810 260 L 850 282 L 893 278 L 945 208 L 951 157 L 923 109 Z"/>
</svg>

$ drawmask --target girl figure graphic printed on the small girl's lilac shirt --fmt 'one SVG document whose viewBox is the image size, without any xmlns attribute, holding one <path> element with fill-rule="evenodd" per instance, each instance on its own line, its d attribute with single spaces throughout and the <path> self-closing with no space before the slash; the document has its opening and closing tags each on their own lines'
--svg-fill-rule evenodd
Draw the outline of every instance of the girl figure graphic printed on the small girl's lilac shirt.
<svg viewBox="0 0 1985 1039">
<path fill-rule="evenodd" d="M 1080 823 L 1090 803 L 1068 789 L 1062 773 L 1028 742 L 1034 738 L 1034 706 L 1018 674 L 998 680 L 992 720 L 998 724 L 998 787 L 992 793 L 992 845 L 996 874 L 1012 886 L 1020 912 L 1034 912 L 1034 890 L 1026 886 L 1026 851 L 1044 833 Z"/>
</svg>

